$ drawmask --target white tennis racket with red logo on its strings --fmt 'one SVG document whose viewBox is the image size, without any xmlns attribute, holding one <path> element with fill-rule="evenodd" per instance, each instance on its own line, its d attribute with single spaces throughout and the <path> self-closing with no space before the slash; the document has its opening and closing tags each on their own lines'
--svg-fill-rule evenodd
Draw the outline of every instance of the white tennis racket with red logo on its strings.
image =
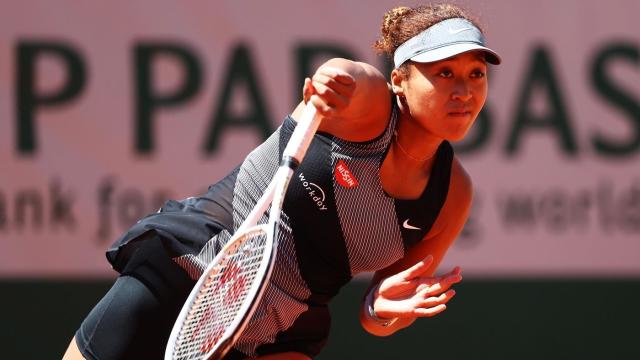
<svg viewBox="0 0 640 360">
<path fill-rule="evenodd" d="M 266 191 L 198 279 L 178 315 L 165 360 L 221 359 L 253 315 L 271 275 L 289 181 L 320 124 L 308 104 Z M 258 220 L 269 210 L 266 224 Z"/>
</svg>

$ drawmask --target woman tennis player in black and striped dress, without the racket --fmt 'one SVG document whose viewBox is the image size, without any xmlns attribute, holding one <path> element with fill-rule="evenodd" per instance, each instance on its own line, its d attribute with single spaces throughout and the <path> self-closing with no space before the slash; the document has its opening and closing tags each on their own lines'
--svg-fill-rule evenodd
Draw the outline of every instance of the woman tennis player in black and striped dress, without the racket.
<svg viewBox="0 0 640 360">
<path fill-rule="evenodd" d="M 238 168 L 200 197 L 167 202 L 108 250 L 121 276 L 65 358 L 162 358 L 194 279 L 265 190 L 308 102 L 322 123 L 285 198 L 265 295 L 225 359 L 314 357 L 328 338 L 327 304 L 361 272 L 375 272 L 360 313 L 374 335 L 446 309 L 461 270 L 434 273 L 472 197 L 449 141 L 478 116 L 487 66 L 500 58 L 454 5 L 390 10 L 375 47 L 393 59 L 390 83 L 369 64 L 327 61 Z"/>
</svg>

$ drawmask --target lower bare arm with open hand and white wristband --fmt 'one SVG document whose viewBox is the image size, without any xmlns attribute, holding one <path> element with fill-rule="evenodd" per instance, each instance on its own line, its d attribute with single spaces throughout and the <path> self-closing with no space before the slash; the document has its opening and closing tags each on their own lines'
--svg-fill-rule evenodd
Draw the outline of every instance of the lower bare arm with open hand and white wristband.
<svg viewBox="0 0 640 360">
<path fill-rule="evenodd" d="M 365 330 L 387 336 L 418 317 L 431 317 L 446 309 L 455 295 L 451 286 L 462 280 L 460 268 L 437 277 L 433 274 L 462 231 L 471 198 L 469 175 L 454 158 L 449 192 L 432 229 L 404 258 L 373 276 L 360 311 Z"/>
</svg>

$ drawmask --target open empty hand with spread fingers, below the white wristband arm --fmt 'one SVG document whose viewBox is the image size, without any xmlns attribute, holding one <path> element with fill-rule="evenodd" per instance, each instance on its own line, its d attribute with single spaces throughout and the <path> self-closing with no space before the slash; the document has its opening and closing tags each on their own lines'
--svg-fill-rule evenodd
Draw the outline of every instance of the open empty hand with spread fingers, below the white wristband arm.
<svg viewBox="0 0 640 360">
<path fill-rule="evenodd" d="M 430 317 L 444 311 L 445 305 L 455 295 L 451 285 L 462 281 L 461 270 L 438 277 L 424 274 L 433 262 L 431 255 L 411 268 L 380 282 L 373 294 L 373 309 L 380 318 Z"/>
</svg>

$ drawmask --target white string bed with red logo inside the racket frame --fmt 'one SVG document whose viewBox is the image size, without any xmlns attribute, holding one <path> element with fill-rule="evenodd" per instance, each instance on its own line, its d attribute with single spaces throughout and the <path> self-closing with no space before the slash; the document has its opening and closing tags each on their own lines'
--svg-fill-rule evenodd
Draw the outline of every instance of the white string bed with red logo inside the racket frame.
<svg viewBox="0 0 640 360">
<path fill-rule="evenodd" d="M 174 359 L 201 358 L 209 353 L 243 315 L 240 310 L 258 275 L 266 241 L 262 231 L 247 234 L 210 272 L 178 335 Z"/>
</svg>

